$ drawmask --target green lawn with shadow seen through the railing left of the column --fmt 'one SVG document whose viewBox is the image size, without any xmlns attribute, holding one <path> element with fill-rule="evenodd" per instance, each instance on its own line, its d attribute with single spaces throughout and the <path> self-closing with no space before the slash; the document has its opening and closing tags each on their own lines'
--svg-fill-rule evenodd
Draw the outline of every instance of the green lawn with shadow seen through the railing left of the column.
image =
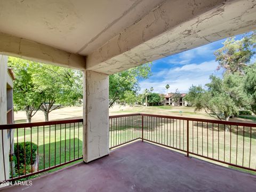
<svg viewBox="0 0 256 192">
<path fill-rule="evenodd" d="M 35 143 L 38 146 L 38 151 L 36 151 L 39 160 L 38 168 L 43 170 L 82 157 L 82 134 L 82 123 L 79 123 L 79 126 L 78 123 L 66 124 L 66 127 L 65 124 L 27 127 L 18 129 L 18 133 L 15 131 L 14 142 L 31 141 Z M 30 158 L 30 156 L 26 156 L 26 158 Z M 27 165 L 27 173 L 31 172 L 30 167 Z"/>
</svg>

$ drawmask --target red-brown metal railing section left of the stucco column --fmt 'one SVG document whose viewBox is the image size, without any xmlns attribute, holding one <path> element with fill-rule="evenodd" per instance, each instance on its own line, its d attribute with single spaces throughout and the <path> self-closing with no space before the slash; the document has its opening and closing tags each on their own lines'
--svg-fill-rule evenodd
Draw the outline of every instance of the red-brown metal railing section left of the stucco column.
<svg viewBox="0 0 256 192">
<path fill-rule="evenodd" d="M 82 159 L 82 122 L 0 125 L 1 177 L 4 181 L 22 179 Z"/>
</svg>

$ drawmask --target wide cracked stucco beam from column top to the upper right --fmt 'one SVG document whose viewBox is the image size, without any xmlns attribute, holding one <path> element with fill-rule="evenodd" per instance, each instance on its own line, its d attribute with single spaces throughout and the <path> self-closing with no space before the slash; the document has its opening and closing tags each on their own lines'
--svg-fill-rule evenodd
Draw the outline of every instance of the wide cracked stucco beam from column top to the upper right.
<svg viewBox="0 0 256 192">
<path fill-rule="evenodd" d="M 89 54 L 86 68 L 113 74 L 245 33 L 255 29 L 255 5 L 255 0 L 166 1 Z"/>
</svg>

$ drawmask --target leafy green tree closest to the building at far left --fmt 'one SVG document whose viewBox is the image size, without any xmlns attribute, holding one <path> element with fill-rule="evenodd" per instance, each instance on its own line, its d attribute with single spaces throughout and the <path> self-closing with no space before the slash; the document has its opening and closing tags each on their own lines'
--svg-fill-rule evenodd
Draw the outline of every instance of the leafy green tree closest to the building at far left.
<svg viewBox="0 0 256 192">
<path fill-rule="evenodd" d="M 9 57 L 8 65 L 13 69 L 15 81 L 13 82 L 14 110 L 25 110 L 27 123 L 41 107 L 41 92 L 36 89 L 32 76 L 36 71 L 35 62 Z"/>
</svg>

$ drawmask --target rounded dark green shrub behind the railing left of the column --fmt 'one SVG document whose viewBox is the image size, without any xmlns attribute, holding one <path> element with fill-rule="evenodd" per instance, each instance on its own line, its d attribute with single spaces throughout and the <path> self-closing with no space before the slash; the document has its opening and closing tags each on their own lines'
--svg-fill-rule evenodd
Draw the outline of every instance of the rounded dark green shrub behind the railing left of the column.
<svg viewBox="0 0 256 192">
<path fill-rule="evenodd" d="M 26 145 L 25 145 L 26 144 Z M 25 146 L 26 146 L 26 165 L 34 164 L 36 159 L 36 150 L 37 145 L 33 142 L 19 142 L 19 164 L 25 164 L 24 158 L 25 158 Z M 32 154 L 31 154 L 31 147 L 32 147 Z M 17 143 L 14 144 L 14 154 L 18 159 L 18 145 Z M 32 162 L 31 161 L 31 155 L 32 155 Z M 18 165 L 18 161 L 16 163 Z M 15 166 L 16 166 L 15 164 Z"/>
</svg>

